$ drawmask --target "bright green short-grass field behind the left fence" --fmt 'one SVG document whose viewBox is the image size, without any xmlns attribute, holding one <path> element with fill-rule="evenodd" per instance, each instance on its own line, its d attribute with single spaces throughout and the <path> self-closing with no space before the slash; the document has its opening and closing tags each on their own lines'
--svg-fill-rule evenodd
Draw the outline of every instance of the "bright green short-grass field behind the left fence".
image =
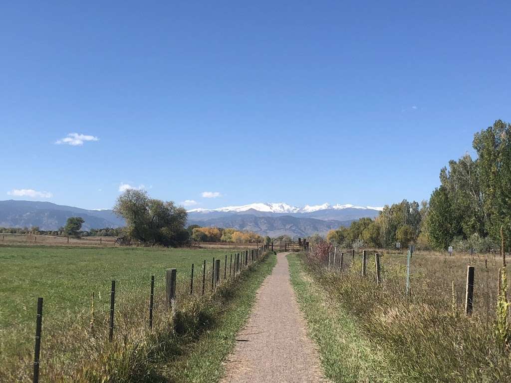
<svg viewBox="0 0 511 383">
<path fill-rule="evenodd" d="M 34 319 L 37 297 L 44 298 L 45 317 L 55 311 L 88 308 L 92 292 L 109 302 L 111 280 L 116 281 L 118 301 L 126 293 L 149 296 L 151 275 L 155 276 L 155 294 L 162 294 L 169 268 L 177 269 L 178 284 L 184 287 L 190 281 L 192 263 L 198 289 L 202 262 L 206 260 L 210 272 L 212 258 L 221 258 L 223 269 L 226 253 L 213 249 L 0 247 L 0 327 Z"/>
</svg>

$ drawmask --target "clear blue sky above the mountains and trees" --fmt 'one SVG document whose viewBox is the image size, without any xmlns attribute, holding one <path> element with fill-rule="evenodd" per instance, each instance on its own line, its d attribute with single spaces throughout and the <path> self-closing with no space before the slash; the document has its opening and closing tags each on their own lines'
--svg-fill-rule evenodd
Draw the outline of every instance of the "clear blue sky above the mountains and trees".
<svg viewBox="0 0 511 383">
<path fill-rule="evenodd" d="M 3 2 L 0 200 L 428 199 L 511 121 L 511 3 L 412 3 Z"/>
</svg>

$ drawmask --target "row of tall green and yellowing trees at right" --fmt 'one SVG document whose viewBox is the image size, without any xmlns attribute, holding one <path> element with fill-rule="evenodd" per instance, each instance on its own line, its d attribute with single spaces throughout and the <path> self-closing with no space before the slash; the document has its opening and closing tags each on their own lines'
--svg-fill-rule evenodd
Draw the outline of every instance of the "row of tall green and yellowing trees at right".
<svg viewBox="0 0 511 383">
<path fill-rule="evenodd" d="M 474 134 L 469 153 L 440 170 L 429 201 L 386 205 L 375 220 L 363 218 L 331 230 L 343 247 L 406 247 L 487 251 L 499 248 L 500 229 L 511 237 L 511 124 L 501 120 Z"/>
</svg>

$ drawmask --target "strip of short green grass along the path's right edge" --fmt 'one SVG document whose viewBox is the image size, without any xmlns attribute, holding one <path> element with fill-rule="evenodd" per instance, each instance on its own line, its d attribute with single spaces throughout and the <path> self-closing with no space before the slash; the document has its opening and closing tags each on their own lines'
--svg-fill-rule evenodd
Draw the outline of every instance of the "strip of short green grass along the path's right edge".
<svg viewBox="0 0 511 383">
<path fill-rule="evenodd" d="M 357 322 L 306 272 L 299 255 L 288 255 L 291 284 L 316 343 L 325 376 L 334 382 L 407 382 L 384 353 L 364 338 Z"/>
</svg>

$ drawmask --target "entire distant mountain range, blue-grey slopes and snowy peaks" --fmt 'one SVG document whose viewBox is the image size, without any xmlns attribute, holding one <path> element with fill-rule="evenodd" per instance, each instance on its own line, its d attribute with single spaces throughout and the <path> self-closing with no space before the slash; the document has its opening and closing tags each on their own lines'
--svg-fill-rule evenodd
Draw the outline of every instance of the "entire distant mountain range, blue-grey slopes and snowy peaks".
<svg viewBox="0 0 511 383">
<path fill-rule="evenodd" d="M 286 203 L 253 203 L 217 209 L 191 209 L 188 211 L 188 224 L 233 227 L 269 236 L 305 236 L 325 234 L 360 218 L 375 218 L 379 210 L 381 208 L 350 204 L 326 203 L 299 208 Z M 125 224 L 112 210 L 87 210 L 51 202 L 0 201 L 0 227 L 38 226 L 41 230 L 57 230 L 69 217 L 82 217 L 85 220 L 84 230 Z"/>
</svg>

